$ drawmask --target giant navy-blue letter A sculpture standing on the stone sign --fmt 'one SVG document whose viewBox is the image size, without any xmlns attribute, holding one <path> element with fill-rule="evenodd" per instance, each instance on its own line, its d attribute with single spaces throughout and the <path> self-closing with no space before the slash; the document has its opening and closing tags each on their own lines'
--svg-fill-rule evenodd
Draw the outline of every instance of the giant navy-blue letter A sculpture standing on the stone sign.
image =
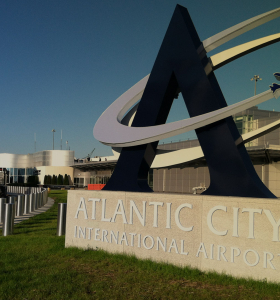
<svg viewBox="0 0 280 300">
<path fill-rule="evenodd" d="M 186 8 L 177 5 L 133 120 L 133 127 L 164 124 L 182 93 L 190 117 L 226 107 Z M 201 54 L 202 53 L 202 54 Z M 275 198 L 255 172 L 232 117 L 196 129 L 210 172 L 206 195 Z M 147 175 L 158 142 L 124 147 L 104 190 L 152 191 Z"/>
</svg>

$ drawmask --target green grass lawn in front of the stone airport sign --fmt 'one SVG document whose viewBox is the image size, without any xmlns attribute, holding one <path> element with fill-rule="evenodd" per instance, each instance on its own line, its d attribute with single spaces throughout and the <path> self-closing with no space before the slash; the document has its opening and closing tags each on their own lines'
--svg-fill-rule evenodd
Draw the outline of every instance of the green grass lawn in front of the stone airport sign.
<svg viewBox="0 0 280 300">
<path fill-rule="evenodd" d="M 104 251 L 64 248 L 56 236 L 57 203 L 0 236 L 0 300 L 277 299 L 280 285 L 235 279 Z"/>
</svg>

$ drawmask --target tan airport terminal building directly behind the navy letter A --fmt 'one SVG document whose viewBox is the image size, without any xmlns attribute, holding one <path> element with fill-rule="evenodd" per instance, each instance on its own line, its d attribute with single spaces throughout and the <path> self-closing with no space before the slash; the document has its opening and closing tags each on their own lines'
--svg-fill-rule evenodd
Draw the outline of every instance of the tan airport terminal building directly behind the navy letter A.
<svg viewBox="0 0 280 300">
<path fill-rule="evenodd" d="M 238 131 L 244 134 L 279 120 L 280 112 L 250 108 L 233 116 Z M 222 141 L 221 141 L 222 142 Z M 159 149 L 177 150 L 199 146 L 198 140 L 159 145 Z M 246 144 L 255 170 L 264 184 L 280 197 L 280 129 Z M 193 193 L 195 187 L 208 187 L 210 176 L 205 159 L 176 168 L 153 171 L 153 189 L 159 192 Z"/>
</svg>

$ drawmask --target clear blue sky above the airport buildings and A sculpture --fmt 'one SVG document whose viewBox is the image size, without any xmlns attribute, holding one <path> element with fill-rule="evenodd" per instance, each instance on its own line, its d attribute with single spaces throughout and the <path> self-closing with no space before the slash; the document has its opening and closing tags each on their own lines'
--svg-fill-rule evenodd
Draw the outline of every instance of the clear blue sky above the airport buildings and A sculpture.
<svg viewBox="0 0 280 300">
<path fill-rule="evenodd" d="M 94 139 L 102 112 L 150 73 L 176 4 L 188 8 L 204 40 L 230 26 L 280 6 L 279 0 L 2 0 L 0 2 L 0 153 L 63 149 L 76 157 L 110 155 Z M 280 32 L 280 18 L 232 40 L 213 55 L 240 43 Z M 228 104 L 268 89 L 280 71 L 280 43 L 258 50 L 221 69 L 216 76 Z M 277 100 L 259 106 L 280 111 Z M 188 117 L 183 100 L 168 121 Z M 186 133 L 171 140 L 194 138 Z"/>
</svg>

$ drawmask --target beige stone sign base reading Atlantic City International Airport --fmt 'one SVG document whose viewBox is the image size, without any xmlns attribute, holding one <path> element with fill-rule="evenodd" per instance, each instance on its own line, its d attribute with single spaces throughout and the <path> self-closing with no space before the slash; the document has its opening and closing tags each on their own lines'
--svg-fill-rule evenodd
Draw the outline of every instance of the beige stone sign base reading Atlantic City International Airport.
<svg viewBox="0 0 280 300">
<path fill-rule="evenodd" d="M 66 247 L 280 282 L 280 201 L 68 191 Z"/>
</svg>

